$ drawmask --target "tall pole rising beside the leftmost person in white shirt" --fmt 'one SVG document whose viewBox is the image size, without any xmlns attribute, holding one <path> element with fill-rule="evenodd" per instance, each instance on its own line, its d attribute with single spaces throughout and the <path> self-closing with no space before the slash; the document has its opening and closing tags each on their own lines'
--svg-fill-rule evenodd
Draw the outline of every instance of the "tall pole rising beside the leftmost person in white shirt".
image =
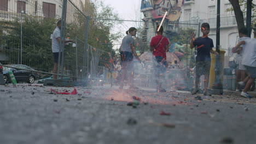
<svg viewBox="0 0 256 144">
<path fill-rule="evenodd" d="M 59 61 L 58 61 L 58 74 L 63 75 L 64 67 L 64 46 L 65 46 L 65 30 L 66 30 L 66 15 L 67 15 L 67 0 L 63 0 L 62 4 L 62 17 L 61 17 L 61 41 L 59 50 Z M 60 71 L 61 70 L 61 71 Z M 61 76 L 61 79 L 63 76 Z"/>
</svg>

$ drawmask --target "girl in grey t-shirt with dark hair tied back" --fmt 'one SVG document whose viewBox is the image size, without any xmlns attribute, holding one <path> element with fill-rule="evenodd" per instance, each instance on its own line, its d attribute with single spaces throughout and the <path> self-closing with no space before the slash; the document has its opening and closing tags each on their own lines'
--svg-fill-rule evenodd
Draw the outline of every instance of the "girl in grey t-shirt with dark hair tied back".
<svg viewBox="0 0 256 144">
<path fill-rule="evenodd" d="M 129 31 L 126 31 L 126 36 L 122 40 L 122 44 L 120 46 L 120 56 L 121 56 L 121 67 L 122 67 L 122 73 L 121 73 L 121 84 L 120 89 L 123 89 L 124 87 L 124 80 L 127 75 L 127 70 L 130 71 L 129 77 L 127 77 L 129 81 L 130 88 L 137 88 L 133 84 L 133 56 L 137 58 L 139 62 L 141 62 L 141 59 L 139 59 L 136 51 L 135 51 L 135 45 L 134 45 L 134 39 L 132 37 L 135 37 L 137 34 L 137 29 L 135 27 L 129 28 Z"/>
</svg>

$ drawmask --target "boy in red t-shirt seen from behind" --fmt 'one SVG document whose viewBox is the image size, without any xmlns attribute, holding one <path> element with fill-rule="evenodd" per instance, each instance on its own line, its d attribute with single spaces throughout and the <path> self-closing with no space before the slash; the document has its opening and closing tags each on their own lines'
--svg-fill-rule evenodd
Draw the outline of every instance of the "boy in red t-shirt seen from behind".
<svg viewBox="0 0 256 144">
<path fill-rule="evenodd" d="M 154 73 L 156 81 L 156 91 L 157 92 L 166 92 L 162 88 L 162 82 L 165 80 L 166 73 L 166 52 L 169 49 L 169 41 L 166 37 L 162 35 L 164 28 L 161 26 L 156 27 L 156 36 L 152 38 L 150 42 L 150 51 L 153 52 L 153 64 L 154 64 Z M 159 31 L 158 31 L 159 29 Z"/>
</svg>

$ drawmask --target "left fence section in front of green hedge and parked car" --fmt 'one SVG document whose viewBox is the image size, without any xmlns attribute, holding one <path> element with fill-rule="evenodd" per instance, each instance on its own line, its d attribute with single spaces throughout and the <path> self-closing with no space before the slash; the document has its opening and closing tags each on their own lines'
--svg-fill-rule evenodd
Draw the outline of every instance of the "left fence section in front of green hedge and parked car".
<svg viewBox="0 0 256 144">
<path fill-rule="evenodd" d="M 79 7 L 77 6 L 79 5 Z M 62 0 L 14 1 L 0 10 L 0 62 L 23 64 L 41 75 L 53 74 L 53 32 L 62 20 L 59 75 L 85 77 L 90 71 L 89 16 L 85 3 Z M 73 39 L 74 43 L 65 43 Z M 63 46 L 62 46 L 63 45 Z M 8 65 L 5 65 L 8 66 Z M 11 65 L 9 65 L 11 67 Z"/>
</svg>

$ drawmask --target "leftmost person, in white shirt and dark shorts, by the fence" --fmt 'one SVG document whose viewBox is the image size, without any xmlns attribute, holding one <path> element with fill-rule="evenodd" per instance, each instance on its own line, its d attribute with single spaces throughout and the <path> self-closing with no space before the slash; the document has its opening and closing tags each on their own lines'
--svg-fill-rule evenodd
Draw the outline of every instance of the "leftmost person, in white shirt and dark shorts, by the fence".
<svg viewBox="0 0 256 144">
<path fill-rule="evenodd" d="M 51 50 L 53 51 L 54 56 L 54 68 L 53 73 L 57 73 L 57 64 L 59 60 L 60 52 L 60 41 L 61 41 L 61 20 L 57 22 L 57 27 L 54 29 L 53 34 L 51 35 Z M 74 43 L 74 40 L 65 40 L 65 43 Z M 57 79 L 57 75 L 53 76 L 53 79 Z"/>
</svg>

